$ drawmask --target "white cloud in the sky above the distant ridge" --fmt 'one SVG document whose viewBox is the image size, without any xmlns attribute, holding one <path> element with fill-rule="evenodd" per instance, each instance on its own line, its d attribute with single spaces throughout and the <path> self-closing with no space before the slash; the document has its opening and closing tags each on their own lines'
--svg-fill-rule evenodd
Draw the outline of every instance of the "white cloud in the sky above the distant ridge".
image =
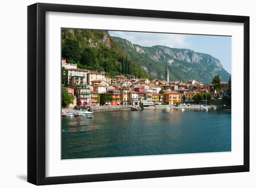
<svg viewBox="0 0 256 188">
<path fill-rule="evenodd" d="M 142 33 L 126 31 L 109 31 L 109 34 L 116 37 L 129 40 L 133 44 L 144 47 L 162 45 L 167 47 L 188 48 L 190 45 L 186 41 L 186 34 L 160 34 L 160 33 Z"/>
</svg>

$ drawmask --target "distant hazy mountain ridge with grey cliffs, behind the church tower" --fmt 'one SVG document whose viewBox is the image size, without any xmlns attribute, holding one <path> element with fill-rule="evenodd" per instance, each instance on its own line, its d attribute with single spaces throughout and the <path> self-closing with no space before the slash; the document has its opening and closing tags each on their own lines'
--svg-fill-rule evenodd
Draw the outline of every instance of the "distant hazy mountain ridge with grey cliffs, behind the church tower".
<svg viewBox="0 0 256 188">
<path fill-rule="evenodd" d="M 222 67 L 220 60 L 209 54 L 165 46 L 142 47 L 120 37 L 112 38 L 129 59 L 142 67 L 150 77 L 164 79 L 166 64 L 170 81 L 195 79 L 210 83 L 219 74 L 221 81 L 228 81 L 230 74 Z"/>
</svg>

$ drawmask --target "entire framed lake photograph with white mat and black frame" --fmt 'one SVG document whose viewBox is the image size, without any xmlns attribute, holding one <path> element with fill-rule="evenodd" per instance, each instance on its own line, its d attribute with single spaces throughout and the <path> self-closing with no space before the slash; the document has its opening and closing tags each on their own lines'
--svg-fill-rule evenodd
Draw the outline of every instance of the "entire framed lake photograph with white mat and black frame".
<svg viewBox="0 0 256 188">
<path fill-rule="evenodd" d="M 28 182 L 249 171 L 249 17 L 27 10 Z"/>
</svg>

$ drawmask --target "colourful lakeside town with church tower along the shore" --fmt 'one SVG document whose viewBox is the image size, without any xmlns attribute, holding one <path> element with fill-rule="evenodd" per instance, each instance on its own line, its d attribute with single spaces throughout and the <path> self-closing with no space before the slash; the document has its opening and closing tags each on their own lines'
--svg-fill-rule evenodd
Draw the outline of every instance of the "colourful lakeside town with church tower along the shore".
<svg viewBox="0 0 256 188">
<path fill-rule="evenodd" d="M 219 75 L 213 78 L 212 83 L 169 81 L 166 65 L 164 80 L 138 79 L 133 75 L 111 78 L 105 72 L 78 68 L 76 64 L 67 63 L 65 58 L 61 59 L 61 67 L 63 109 L 108 106 L 108 109 L 112 107 L 116 110 L 118 106 L 122 109 L 122 106 L 147 108 L 231 104 L 230 78 L 229 82 L 223 82 Z M 65 77 L 66 83 L 63 83 Z"/>
</svg>

